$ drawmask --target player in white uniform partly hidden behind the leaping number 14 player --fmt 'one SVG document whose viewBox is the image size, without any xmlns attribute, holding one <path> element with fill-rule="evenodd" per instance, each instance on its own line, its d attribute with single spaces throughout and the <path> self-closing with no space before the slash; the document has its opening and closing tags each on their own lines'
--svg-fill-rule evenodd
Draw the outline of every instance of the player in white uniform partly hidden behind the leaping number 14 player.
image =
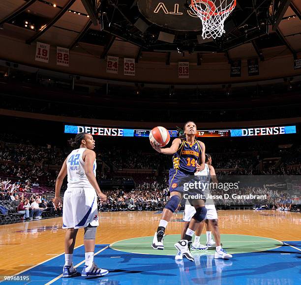
<svg viewBox="0 0 301 285">
<path fill-rule="evenodd" d="M 210 155 L 205 154 L 206 158 L 205 158 L 205 168 L 202 171 L 196 172 L 195 175 L 200 176 L 200 179 L 202 180 L 202 182 L 204 183 L 210 183 L 210 181 L 212 180 L 213 183 L 218 183 L 217 179 L 216 179 L 216 174 L 215 174 L 215 170 L 214 167 L 211 165 L 212 163 L 212 158 Z M 207 194 L 210 194 L 209 189 L 205 190 L 204 195 L 207 196 Z M 209 223 L 209 227 L 212 228 L 213 231 L 213 235 L 215 238 L 215 244 L 216 244 L 216 251 L 214 254 L 214 258 L 231 258 L 232 255 L 227 253 L 225 250 L 222 249 L 221 244 L 220 244 L 220 232 L 219 232 L 219 228 L 218 228 L 218 218 L 217 218 L 217 213 L 216 213 L 216 209 L 214 206 L 214 201 L 212 199 L 206 199 L 205 202 L 205 207 L 207 209 L 207 214 L 206 214 L 206 221 L 208 221 Z M 183 215 L 183 221 L 185 222 L 183 229 L 182 229 L 182 233 L 181 235 L 183 235 L 184 232 L 186 232 L 187 226 L 189 225 L 189 222 L 191 220 L 191 218 L 193 217 L 193 215 L 195 214 L 195 208 L 193 206 L 191 206 L 189 203 L 185 204 L 185 210 L 184 210 L 184 215 Z M 200 240 L 200 235 L 202 233 L 203 227 L 204 227 L 204 223 L 205 221 L 201 222 L 199 225 L 199 228 L 196 230 L 195 232 L 195 240 L 194 243 L 191 246 L 192 250 L 207 250 L 208 247 L 211 245 L 209 244 L 209 246 L 203 246 L 199 243 Z M 208 230 L 207 230 L 208 232 Z M 208 240 L 209 235 L 207 234 L 207 244 L 208 244 Z M 178 254 L 176 255 L 176 260 L 182 259 L 181 253 L 178 252 Z"/>
</svg>

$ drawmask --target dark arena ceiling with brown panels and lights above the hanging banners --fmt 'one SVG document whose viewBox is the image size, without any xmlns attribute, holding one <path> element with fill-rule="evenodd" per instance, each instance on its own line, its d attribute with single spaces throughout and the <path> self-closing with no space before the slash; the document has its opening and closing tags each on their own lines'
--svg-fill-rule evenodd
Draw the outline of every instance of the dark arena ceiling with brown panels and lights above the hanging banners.
<svg viewBox="0 0 301 285">
<path fill-rule="evenodd" d="M 173 29 L 173 24 L 164 19 L 160 22 L 166 15 L 187 14 L 186 0 L 178 1 L 178 10 L 170 6 L 177 1 L 162 0 L 166 9 L 161 7 L 155 20 L 143 12 L 141 6 L 146 2 L 160 3 L 150 0 L 1 0 L 0 34 L 17 37 L 28 44 L 41 41 L 79 49 L 79 52 L 98 50 L 99 53 L 100 50 L 101 58 L 107 54 L 131 56 L 138 62 L 142 53 L 145 56 L 150 52 L 166 57 L 167 64 L 172 52 L 194 54 L 197 61 L 212 52 L 223 53 L 228 60 L 258 57 L 263 61 L 266 56 L 281 54 L 284 49 L 295 57 L 301 51 L 301 0 L 238 0 L 236 9 L 225 22 L 226 33 L 216 40 L 200 37 L 199 19 L 191 23 L 187 20 L 188 23 L 187 17 L 183 20 L 179 16 L 173 20 L 175 25 L 185 23 L 186 28 L 182 29 L 185 31 Z M 174 36 L 172 42 L 162 38 L 162 32 Z"/>
</svg>

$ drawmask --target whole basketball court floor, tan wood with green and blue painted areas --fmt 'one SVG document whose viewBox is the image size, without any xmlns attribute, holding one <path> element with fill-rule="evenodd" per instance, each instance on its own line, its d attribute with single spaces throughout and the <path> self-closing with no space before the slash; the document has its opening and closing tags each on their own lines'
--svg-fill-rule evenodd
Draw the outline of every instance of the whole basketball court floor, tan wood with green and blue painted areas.
<svg viewBox="0 0 301 285">
<path fill-rule="evenodd" d="M 188 268 L 191 274 L 194 274 L 193 272 L 199 274 L 200 270 L 195 270 L 198 265 L 201 266 L 202 270 L 208 270 L 208 260 L 210 260 L 208 256 L 213 256 L 212 250 L 199 254 L 199 264 L 188 260 L 183 260 L 183 264 L 180 265 L 175 263 L 174 255 L 176 254 L 176 249 L 174 249 L 173 243 L 179 240 L 180 237 L 183 225 L 181 222 L 182 213 L 174 214 L 172 221 L 168 224 L 166 230 L 167 236 L 164 240 L 165 250 L 155 251 L 151 249 L 151 240 L 159 222 L 160 213 L 99 213 L 100 226 L 97 229 L 96 237 L 96 244 L 99 246 L 96 247 L 95 253 L 100 252 L 95 255 L 95 262 L 100 267 L 109 269 L 109 274 L 105 277 L 106 282 L 119 282 L 110 284 L 139 284 L 140 282 L 152 284 L 152 282 L 155 282 L 153 278 L 160 277 L 166 284 L 186 284 L 186 282 L 194 284 L 196 283 L 195 279 L 200 277 L 191 276 L 191 279 L 189 279 L 189 274 L 186 274 L 185 279 L 188 279 L 181 281 L 181 270 L 187 271 Z M 261 272 L 260 264 L 263 262 L 262 268 L 267 268 L 267 265 L 264 265 L 266 262 L 265 255 L 271 255 L 271 263 L 274 264 L 274 267 L 269 272 L 273 277 L 276 278 L 276 276 L 279 276 L 279 280 L 285 278 L 287 281 L 290 281 L 290 284 L 300 284 L 300 271 L 297 270 L 298 265 L 300 266 L 300 261 L 298 262 L 297 257 L 301 257 L 300 214 L 272 210 L 238 210 L 219 211 L 218 215 L 223 247 L 229 253 L 233 254 L 232 260 L 229 260 L 228 263 L 227 260 L 222 260 L 224 262 L 221 267 L 223 269 L 222 272 L 227 273 L 230 270 L 229 273 L 231 273 L 231 270 L 234 270 L 234 268 L 238 270 L 241 267 L 249 270 L 250 267 L 256 266 L 258 267 L 258 274 L 252 273 L 247 278 L 249 280 L 251 278 L 254 281 L 253 284 L 257 284 L 256 280 L 260 279 L 260 274 L 265 274 L 265 278 L 269 277 L 266 271 Z M 63 265 L 63 254 L 60 254 L 64 252 L 65 233 L 65 230 L 61 226 L 61 217 L 1 225 L 0 246 L 2 254 L 0 259 L 0 275 L 2 280 L 4 276 L 17 274 L 30 275 L 29 282 L 22 282 L 20 284 L 33 282 L 35 284 L 61 284 L 61 282 L 67 284 L 77 284 L 78 282 L 88 284 L 100 282 L 101 278 L 92 281 L 82 279 L 81 277 L 71 279 L 62 279 L 60 277 Z M 206 234 L 202 238 L 201 242 L 204 242 Z M 74 253 L 77 256 L 77 261 L 84 261 L 85 259 L 84 248 L 83 246 L 81 247 L 82 244 L 83 230 L 80 230 L 75 245 L 77 249 Z M 246 255 L 250 256 L 246 257 Z M 205 260 L 203 264 L 202 260 L 206 257 L 207 261 Z M 121 261 L 120 258 L 122 258 Z M 146 266 L 146 264 L 150 264 L 150 258 L 152 258 L 152 261 L 156 260 L 153 268 Z M 245 264 L 242 258 L 247 258 L 248 264 Z M 275 258 L 279 258 L 281 264 L 275 264 Z M 283 258 L 286 259 L 282 260 Z M 46 261 L 49 259 L 51 260 Z M 127 263 L 131 263 L 133 260 L 135 260 L 133 267 L 136 269 L 126 269 Z M 271 266 L 269 260 L 267 262 Z M 77 261 L 74 261 L 74 263 Z M 78 262 L 80 264 L 78 271 L 82 268 L 81 261 Z M 49 262 L 53 264 L 48 266 Z M 221 283 L 229 281 L 231 274 L 218 277 L 221 269 L 218 269 L 220 266 L 218 267 L 219 264 L 217 264 L 217 261 L 215 261 L 215 267 L 214 263 L 212 265 L 212 258 L 209 264 L 211 264 L 211 267 L 213 266 L 212 268 L 216 267 L 216 272 L 212 272 L 211 274 L 211 276 L 215 276 L 215 281 L 219 280 Z M 290 264 L 290 266 L 285 266 L 285 264 Z M 164 266 L 168 269 L 167 272 L 171 270 L 173 274 L 168 273 L 165 275 L 156 272 L 164 270 Z M 185 266 L 188 267 L 185 268 Z M 36 268 L 39 268 L 38 271 L 41 274 L 35 271 Z M 43 271 L 47 272 L 47 274 L 43 274 Z M 124 276 L 121 274 L 122 272 Z M 254 272 L 256 273 L 256 270 Z M 242 276 L 245 277 L 245 274 L 248 275 L 248 273 L 243 273 L 240 278 Z M 123 283 L 122 281 L 124 280 L 128 280 L 129 283 Z"/>
</svg>

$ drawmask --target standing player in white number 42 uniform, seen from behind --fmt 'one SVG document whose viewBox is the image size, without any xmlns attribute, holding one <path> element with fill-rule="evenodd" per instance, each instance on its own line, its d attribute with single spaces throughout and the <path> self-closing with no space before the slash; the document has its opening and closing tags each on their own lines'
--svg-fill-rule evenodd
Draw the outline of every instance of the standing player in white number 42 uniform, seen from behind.
<svg viewBox="0 0 301 285">
<path fill-rule="evenodd" d="M 98 223 L 97 195 L 106 200 L 96 181 L 95 141 L 89 133 L 79 133 L 71 141 L 75 148 L 65 159 L 56 182 L 55 204 L 61 202 L 60 188 L 67 175 L 68 185 L 63 199 L 63 225 L 65 235 L 65 265 L 63 277 L 78 275 L 72 264 L 76 234 L 84 228 L 85 266 L 82 276 L 86 278 L 103 276 L 108 270 L 98 268 L 93 262 L 96 227 Z M 96 195 L 97 193 L 97 195 Z"/>
</svg>

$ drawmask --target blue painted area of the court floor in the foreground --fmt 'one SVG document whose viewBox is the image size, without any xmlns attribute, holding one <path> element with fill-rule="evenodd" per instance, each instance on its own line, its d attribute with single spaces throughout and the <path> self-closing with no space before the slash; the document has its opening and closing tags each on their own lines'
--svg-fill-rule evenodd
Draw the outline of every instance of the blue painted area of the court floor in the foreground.
<svg viewBox="0 0 301 285">
<path fill-rule="evenodd" d="M 291 245 L 294 243 L 294 246 L 301 244 L 300 241 L 287 243 Z M 95 252 L 106 246 L 96 245 Z M 141 247 L 150 247 L 150 245 L 141 244 Z M 195 262 L 184 259 L 177 263 L 174 256 L 170 255 L 125 253 L 107 248 L 95 255 L 94 261 L 99 267 L 108 269 L 108 275 L 90 280 L 81 276 L 60 278 L 53 284 L 301 284 L 301 252 L 289 245 L 265 252 L 234 254 L 230 260 L 214 259 L 213 255 L 194 256 Z M 75 249 L 73 264 L 80 263 L 84 259 L 84 247 Z M 28 284 L 46 284 L 62 273 L 63 264 L 64 255 L 62 254 L 21 275 L 31 276 L 31 282 Z M 84 264 L 77 268 L 79 272 L 83 266 Z M 25 283 L 14 282 L 14 284 Z"/>
</svg>

